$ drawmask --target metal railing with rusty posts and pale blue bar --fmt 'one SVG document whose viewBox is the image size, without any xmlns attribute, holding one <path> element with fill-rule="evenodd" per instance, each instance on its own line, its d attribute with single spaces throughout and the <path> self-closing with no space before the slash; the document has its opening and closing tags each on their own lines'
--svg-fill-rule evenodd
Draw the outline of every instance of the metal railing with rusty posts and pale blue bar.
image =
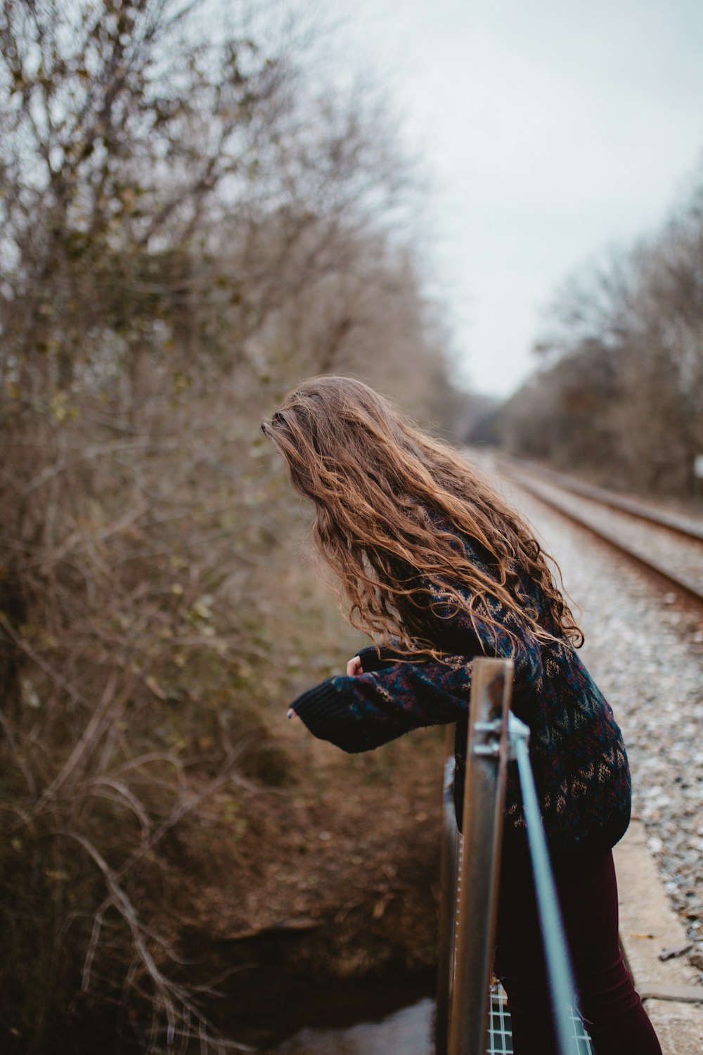
<svg viewBox="0 0 703 1055">
<path fill-rule="evenodd" d="M 529 729 L 510 713 L 512 663 L 473 660 L 463 837 L 454 818 L 453 737 L 444 778 L 436 1055 L 485 1055 L 501 867 L 505 784 L 518 766 L 560 1055 L 579 1055 L 573 975 L 529 761 Z"/>
</svg>

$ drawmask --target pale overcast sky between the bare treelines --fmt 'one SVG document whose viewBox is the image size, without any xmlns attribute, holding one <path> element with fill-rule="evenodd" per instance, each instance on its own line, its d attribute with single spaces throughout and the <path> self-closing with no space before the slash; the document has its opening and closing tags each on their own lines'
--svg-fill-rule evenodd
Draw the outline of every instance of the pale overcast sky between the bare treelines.
<svg viewBox="0 0 703 1055">
<path fill-rule="evenodd" d="M 703 0 L 354 0 L 432 184 L 434 288 L 506 396 L 556 287 L 653 230 L 703 157 Z M 353 13 L 353 14 L 352 14 Z"/>
</svg>

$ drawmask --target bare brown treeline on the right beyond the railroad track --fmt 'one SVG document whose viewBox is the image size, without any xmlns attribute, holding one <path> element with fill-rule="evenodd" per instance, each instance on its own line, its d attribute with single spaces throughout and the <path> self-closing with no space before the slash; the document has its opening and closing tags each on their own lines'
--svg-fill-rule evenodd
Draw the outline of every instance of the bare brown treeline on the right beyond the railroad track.
<svg viewBox="0 0 703 1055">
<path fill-rule="evenodd" d="M 661 231 L 564 286 L 535 352 L 541 368 L 501 414 L 512 452 L 604 483 L 700 495 L 703 176 Z"/>
</svg>

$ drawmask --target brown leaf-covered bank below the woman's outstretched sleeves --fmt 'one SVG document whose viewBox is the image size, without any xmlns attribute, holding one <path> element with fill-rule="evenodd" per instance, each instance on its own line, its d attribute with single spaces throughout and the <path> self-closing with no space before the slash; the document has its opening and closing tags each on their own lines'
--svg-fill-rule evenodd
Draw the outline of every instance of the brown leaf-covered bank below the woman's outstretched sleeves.
<svg viewBox="0 0 703 1055">
<path fill-rule="evenodd" d="M 316 742 L 301 725 L 293 736 L 292 780 L 237 789 L 236 809 L 228 810 L 227 794 L 217 804 L 219 821 L 209 831 L 211 839 L 217 832 L 214 882 L 204 877 L 192 901 L 191 933 L 233 944 L 262 933 L 323 931 L 319 968 L 341 977 L 390 961 L 431 963 L 443 730 L 363 755 Z M 315 956 L 308 957 L 312 970 Z"/>
</svg>

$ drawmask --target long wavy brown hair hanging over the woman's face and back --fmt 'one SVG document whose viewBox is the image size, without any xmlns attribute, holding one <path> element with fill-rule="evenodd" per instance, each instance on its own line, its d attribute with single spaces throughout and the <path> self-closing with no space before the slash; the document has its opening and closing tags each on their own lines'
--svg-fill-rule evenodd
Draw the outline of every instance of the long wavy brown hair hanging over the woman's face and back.
<svg viewBox="0 0 703 1055">
<path fill-rule="evenodd" d="M 464 609 L 474 627 L 497 630 L 499 602 L 501 629 L 513 637 L 507 613 L 508 622 L 539 640 L 583 644 L 526 521 L 474 465 L 368 385 L 311 378 L 261 431 L 282 455 L 294 487 L 315 503 L 315 542 L 339 578 L 355 627 L 401 651 L 440 655 L 423 613 L 446 618 Z M 461 536 L 483 556 L 483 568 Z"/>
</svg>

